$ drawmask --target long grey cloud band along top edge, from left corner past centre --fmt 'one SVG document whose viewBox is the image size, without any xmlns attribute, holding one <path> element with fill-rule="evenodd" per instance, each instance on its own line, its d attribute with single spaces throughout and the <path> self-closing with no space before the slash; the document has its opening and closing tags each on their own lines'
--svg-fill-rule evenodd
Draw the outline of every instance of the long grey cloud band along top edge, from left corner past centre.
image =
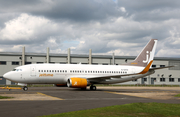
<svg viewBox="0 0 180 117">
<path fill-rule="evenodd" d="M 3 1 L 0 11 L 30 13 L 53 20 L 65 19 L 72 21 L 105 20 L 108 17 L 118 17 L 122 12 L 117 10 L 113 1 L 96 0 L 15 0 Z"/>
</svg>

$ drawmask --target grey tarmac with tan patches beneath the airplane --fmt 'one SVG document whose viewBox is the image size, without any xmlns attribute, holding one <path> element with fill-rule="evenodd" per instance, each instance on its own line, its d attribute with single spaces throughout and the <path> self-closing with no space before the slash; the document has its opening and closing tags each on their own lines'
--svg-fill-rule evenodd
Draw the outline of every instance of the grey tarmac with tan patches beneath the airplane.
<svg viewBox="0 0 180 117">
<path fill-rule="evenodd" d="M 96 91 L 67 87 L 0 89 L 0 117 L 36 117 L 136 102 L 180 104 L 180 87 L 97 87 Z"/>
</svg>

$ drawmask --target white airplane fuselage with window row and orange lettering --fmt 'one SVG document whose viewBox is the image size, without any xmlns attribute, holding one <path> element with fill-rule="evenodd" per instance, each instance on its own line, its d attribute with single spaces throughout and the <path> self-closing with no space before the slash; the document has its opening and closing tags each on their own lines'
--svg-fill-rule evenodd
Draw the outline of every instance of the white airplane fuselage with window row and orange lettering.
<svg viewBox="0 0 180 117">
<path fill-rule="evenodd" d="M 26 84 L 66 84 L 71 77 L 91 78 L 106 76 L 128 76 L 141 72 L 144 67 L 126 65 L 83 64 L 31 64 L 8 72 L 11 81 Z M 7 77 L 7 74 L 5 76 Z M 13 74 L 13 75 L 11 75 Z"/>
</svg>

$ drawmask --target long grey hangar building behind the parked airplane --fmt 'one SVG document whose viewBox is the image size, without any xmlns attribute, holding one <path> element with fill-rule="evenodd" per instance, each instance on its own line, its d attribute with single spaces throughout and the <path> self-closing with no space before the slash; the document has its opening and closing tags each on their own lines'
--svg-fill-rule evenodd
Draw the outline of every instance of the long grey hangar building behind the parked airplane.
<svg viewBox="0 0 180 117">
<path fill-rule="evenodd" d="M 112 55 L 92 55 L 92 50 L 89 54 L 71 54 L 68 49 L 67 54 L 60 53 L 26 53 L 25 47 L 22 52 L 0 52 L 0 84 L 11 85 L 15 84 L 9 80 L 4 79 L 4 73 L 14 69 L 17 66 L 26 64 L 95 64 L 95 65 L 119 65 L 131 60 L 136 56 L 115 56 Z M 155 57 L 152 67 L 165 67 L 169 65 L 176 65 L 173 68 L 166 68 L 156 70 L 156 72 L 145 78 L 129 81 L 123 84 L 136 85 L 180 85 L 180 58 L 173 57 Z"/>
</svg>

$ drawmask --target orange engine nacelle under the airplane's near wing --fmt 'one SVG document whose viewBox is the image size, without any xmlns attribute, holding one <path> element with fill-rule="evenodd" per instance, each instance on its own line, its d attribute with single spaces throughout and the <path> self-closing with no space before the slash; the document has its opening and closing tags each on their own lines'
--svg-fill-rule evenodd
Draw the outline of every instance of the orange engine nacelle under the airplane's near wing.
<svg viewBox="0 0 180 117">
<path fill-rule="evenodd" d="M 85 78 L 69 78 L 67 81 L 68 87 L 73 88 L 86 88 L 88 82 Z"/>
</svg>

